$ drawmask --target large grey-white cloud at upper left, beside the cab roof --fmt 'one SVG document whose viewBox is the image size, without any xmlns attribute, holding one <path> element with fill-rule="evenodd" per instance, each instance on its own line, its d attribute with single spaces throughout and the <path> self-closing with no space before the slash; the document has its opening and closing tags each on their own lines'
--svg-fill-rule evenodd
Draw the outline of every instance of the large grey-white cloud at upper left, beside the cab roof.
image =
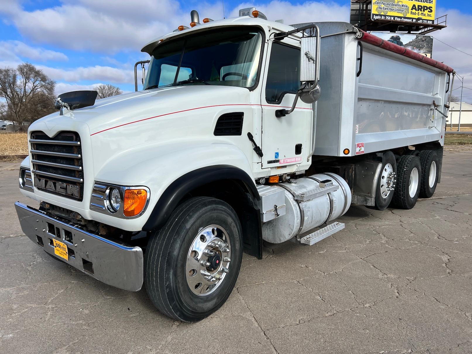
<svg viewBox="0 0 472 354">
<path fill-rule="evenodd" d="M 82 0 L 34 11 L 5 12 L 21 34 L 38 43 L 73 50 L 116 53 L 139 51 L 179 23 L 175 0 Z M 11 7 L 10 7 L 11 8 Z M 186 16 L 188 17 L 188 16 Z"/>
</svg>

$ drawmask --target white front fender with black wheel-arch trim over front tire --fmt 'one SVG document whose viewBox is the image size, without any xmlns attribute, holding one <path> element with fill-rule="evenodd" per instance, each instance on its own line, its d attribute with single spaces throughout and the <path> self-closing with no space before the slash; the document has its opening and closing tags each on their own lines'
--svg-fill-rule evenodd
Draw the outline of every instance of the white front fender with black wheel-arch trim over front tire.
<svg viewBox="0 0 472 354">
<path fill-rule="evenodd" d="M 206 169 L 210 167 L 212 169 Z M 225 178 L 240 179 L 259 198 L 251 163 L 241 149 L 225 142 L 180 140 L 145 148 L 140 146 L 114 155 L 103 166 L 96 166 L 95 170 L 98 171 L 95 174 L 97 182 L 144 185 L 150 189 L 150 202 L 141 217 L 118 220 L 110 215 L 108 224 L 130 231 L 155 229 L 163 225 L 180 201 L 179 196 L 189 186 L 196 187 L 199 183 L 203 185 Z M 197 170 L 200 173 L 193 173 Z M 192 180 L 186 183 L 190 178 Z M 178 191 L 176 188 L 168 190 L 172 184 L 176 186 L 174 182 L 177 180 L 180 181 L 179 185 L 184 186 Z M 175 193 L 171 193 L 171 190 Z M 163 195 L 166 191 L 167 194 Z M 165 199 L 161 199 L 163 197 Z M 97 219 L 104 216 L 108 219 L 108 215 L 96 214 Z"/>
</svg>

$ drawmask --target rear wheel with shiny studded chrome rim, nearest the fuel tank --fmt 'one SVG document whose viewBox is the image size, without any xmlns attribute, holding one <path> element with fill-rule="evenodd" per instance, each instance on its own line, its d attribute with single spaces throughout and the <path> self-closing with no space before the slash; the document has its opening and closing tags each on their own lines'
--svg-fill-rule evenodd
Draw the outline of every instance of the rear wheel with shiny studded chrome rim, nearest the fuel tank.
<svg viewBox="0 0 472 354">
<path fill-rule="evenodd" d="M 396 182 L 396 161 L 391 151 L 383 153 L 382 170 L 375 190 L 375 207 L 371 209 L 385 210 L 392 201 L 393 188 Z"/>
</svg>

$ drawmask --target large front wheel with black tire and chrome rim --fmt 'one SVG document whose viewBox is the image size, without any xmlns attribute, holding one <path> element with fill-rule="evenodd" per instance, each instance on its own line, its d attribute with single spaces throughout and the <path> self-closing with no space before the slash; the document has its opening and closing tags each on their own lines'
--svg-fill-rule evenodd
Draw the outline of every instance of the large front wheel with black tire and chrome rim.
<svg viewBox="0 0 472 354">
<path fill-rule="evenodd" d="M 233 208 L 219 199 L 191 198 L 149 239 L 144 267 L 149 298 L 176 320 L 202 320 L 228 299 L 242 256 L 242 229 Z"/>
</svg>

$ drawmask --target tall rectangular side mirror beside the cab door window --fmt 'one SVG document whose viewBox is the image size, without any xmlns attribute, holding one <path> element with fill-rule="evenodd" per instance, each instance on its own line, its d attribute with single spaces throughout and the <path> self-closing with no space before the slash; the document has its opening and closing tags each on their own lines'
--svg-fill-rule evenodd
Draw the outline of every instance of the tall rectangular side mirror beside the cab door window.
<svg viewBox="0 0 472 354">
<path fill-rule="evenodd" d="M 300 81 L 318 84 L 320 71 L 320 43 L 317 37 L 301 38 Z"/>
</svg>

